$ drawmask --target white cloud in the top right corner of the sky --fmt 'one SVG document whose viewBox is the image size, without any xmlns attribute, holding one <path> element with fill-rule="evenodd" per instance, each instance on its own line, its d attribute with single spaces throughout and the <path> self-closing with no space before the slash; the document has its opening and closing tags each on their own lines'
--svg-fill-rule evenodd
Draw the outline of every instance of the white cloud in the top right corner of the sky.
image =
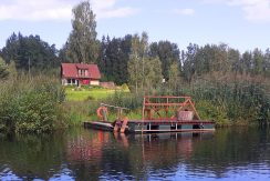
<svg viewBox="0 0 270 181">
<path fill-rule="evenodd" d="M 270 22 L 270 0 L 202 0 L 202 2 L 240 7 L 245 19 L 252 22 Z"/>
</svg>

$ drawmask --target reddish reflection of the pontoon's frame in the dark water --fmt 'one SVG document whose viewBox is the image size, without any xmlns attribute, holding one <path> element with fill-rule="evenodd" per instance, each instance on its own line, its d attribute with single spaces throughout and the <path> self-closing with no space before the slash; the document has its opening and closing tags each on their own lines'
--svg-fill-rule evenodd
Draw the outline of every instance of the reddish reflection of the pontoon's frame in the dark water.
<svg viewBox="0 0 270 181">
<path fill-rule="evenodd" d="M 211 135 L 210 135 L 211 137 Z M 149 135 L 115 135 L 117 143 L 122 143 L 122 148 L 107 150 L 103 152 L 104 161 L 110 163 L 106 170 L 115 170 L 135 179 L 147 179 L 150 172 L 163 174 L 175 173 L 179 160 L 189 158 L 193 153 L 193 140 L 201 139 L 201 134 L 193 133 L 168 133 L 168 134 L 149 134 Z M 121 145 L 121 144 L 120 144 Z M 117 147 L 120 147 L 117 145 Z M 126 147 L 128 145 L 128 147 Z M 122 149 L 122 150 L 121 150 Z M 121 151 L 121 152 L 120 152 Z"/>
</svg>

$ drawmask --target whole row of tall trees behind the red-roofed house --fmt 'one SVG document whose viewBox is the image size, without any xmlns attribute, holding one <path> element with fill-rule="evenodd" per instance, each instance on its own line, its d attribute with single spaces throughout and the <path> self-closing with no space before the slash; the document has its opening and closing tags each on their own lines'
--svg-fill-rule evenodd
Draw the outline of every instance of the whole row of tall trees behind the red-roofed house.
<svg viewBox="0 0 270 181">
<path fill-rule="evenodd" d="M 179 50 L 176 43 L 167 40 L 149 42 L 146 32 L 123 38 L 103 36 L 97 40 L 95 14 L 90 2 L 79 3 L 72 12 L 72 31 L 60 50 L 40 36 L 13 32 L 0 50 L 0 57 L 7 64 L 13 61 L 20 71 L 33 72 L 58 69 L 61 62 L 97 63 L 104 80 L 132 87 L 157 84 L 163 80 L 175 82 L 177 77 L 190 83 L 211 72 L 270 76 L 270 49 L 240 53 L 224 43 L 202 47 L 190 43 L 186 50 Z M 158 81 L 149 80 L 150 77 L 158 77 Z"/>
</svg>

